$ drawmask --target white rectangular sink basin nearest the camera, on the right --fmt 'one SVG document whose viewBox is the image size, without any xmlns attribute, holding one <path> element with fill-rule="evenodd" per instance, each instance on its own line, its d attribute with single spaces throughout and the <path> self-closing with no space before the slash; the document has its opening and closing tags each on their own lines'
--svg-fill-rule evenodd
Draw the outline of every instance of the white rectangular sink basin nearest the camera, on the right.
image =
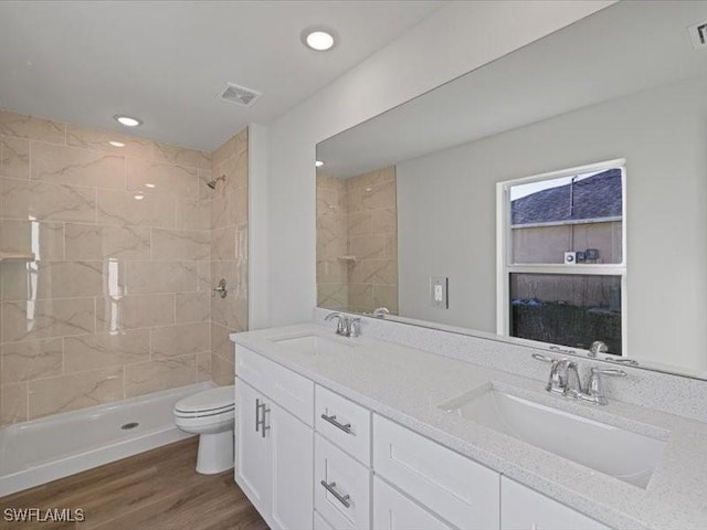
<svg viewBox="0 0 707 530">
<path fill-rule="evenodd" d="M 493 388 L 440 409 L 644 489 L 665 447 L 662 439 Z"/>
</svg>

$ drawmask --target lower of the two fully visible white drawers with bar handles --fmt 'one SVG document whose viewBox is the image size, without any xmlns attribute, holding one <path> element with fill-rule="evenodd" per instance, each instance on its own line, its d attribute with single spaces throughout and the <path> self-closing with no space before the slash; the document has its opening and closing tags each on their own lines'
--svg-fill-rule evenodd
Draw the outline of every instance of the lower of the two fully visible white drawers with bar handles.
<svg viewBox="0 0 707 530">
<path fill-rule="evenodd" d="M 315 509 L 336 529 L 370 528 L 370 470 L 318 434 L 314 459 Z"/>
</svg>

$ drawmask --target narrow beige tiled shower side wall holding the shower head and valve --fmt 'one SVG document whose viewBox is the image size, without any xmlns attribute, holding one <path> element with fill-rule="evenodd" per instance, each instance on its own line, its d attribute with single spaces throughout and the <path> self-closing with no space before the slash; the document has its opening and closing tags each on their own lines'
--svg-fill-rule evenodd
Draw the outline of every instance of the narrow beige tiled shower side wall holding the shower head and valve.
<svg viewBox="0 0 707 530">
<path fill-rule="evenodd" d="M 211 276 L 225 279 L 228 296 L 211 298 L 211 374 L 233 384 L 233 343 L 229 333 L 247 330 L 247 129 L 212 155 L 217 183 L 211 208 Z"/>
</svg>

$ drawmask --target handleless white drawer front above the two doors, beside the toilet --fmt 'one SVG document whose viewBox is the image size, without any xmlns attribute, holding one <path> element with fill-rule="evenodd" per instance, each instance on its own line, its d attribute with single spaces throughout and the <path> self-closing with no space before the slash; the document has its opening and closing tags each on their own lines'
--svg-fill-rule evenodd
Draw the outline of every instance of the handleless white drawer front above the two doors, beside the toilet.
<svg viewBox="0 0 707 530">
<path fill-rule="evenodd" d="M 314 426 L 314 383 L 265 359 L 243 346 L 236 346 L 238 377 L 310 427 Z"/>
</svg>

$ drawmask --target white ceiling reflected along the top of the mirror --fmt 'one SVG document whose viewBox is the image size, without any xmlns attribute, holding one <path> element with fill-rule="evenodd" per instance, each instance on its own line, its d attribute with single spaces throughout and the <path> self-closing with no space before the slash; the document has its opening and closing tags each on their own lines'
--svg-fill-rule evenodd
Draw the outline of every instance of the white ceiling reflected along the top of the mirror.
<svg viewBox="0 0 707 530">
<path fill-rule="evenodd" d="M 705 1 L 623 1 L 317 146 L 350 177 L 707 73 Z"/>
</svg>

